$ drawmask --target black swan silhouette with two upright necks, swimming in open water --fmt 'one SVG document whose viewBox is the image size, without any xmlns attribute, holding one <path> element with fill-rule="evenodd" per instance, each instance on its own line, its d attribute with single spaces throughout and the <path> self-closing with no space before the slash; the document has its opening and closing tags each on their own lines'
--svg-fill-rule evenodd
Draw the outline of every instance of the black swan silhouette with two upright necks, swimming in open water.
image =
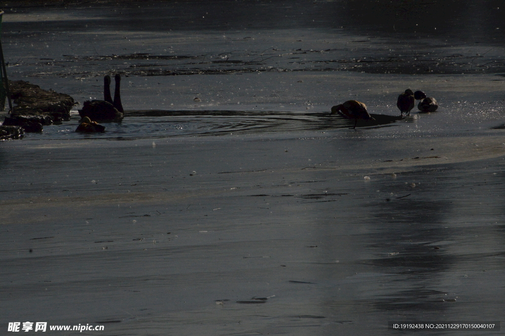
<svg viewBox="0 0 505 336">
<path fill-rule="evenodd" d="M 120 82 L 121 76 L 115 76 L 116 88 L 114 90 L 114 101 L 111 97 L 111 77 L 104 77 L 104 100 L 85 101 L 82 110 L 79 110 L 81 118 L 88 117 L 95 121 L 120 121 L 124 117 L 123 105 L 121 104 Z"/>
</svg>

